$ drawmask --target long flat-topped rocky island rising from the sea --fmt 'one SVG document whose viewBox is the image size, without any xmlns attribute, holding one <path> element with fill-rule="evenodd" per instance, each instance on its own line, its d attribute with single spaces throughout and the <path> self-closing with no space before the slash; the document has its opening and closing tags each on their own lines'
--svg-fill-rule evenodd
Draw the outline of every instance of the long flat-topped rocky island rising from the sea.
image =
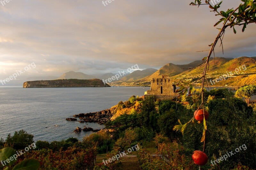
<svg viewBox="0 0 256 170">
<path fill-rule="evenodd" d="M 39 80 L 27 81 L 23 83 L 23 88 L 38 88 L 38 87 L 110 87 L 100 79 L 80 80 L 80 79 L 65 79 L 65 80 Z"/>
</svg>

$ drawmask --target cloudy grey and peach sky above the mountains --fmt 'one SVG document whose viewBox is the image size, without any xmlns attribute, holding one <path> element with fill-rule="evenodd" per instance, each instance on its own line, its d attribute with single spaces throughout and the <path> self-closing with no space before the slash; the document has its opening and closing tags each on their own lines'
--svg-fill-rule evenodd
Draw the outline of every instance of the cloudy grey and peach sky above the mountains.
<svg viewBox="0 0 256 170">
<path fill-rule="evenodd" d="M 5 0 L 2 0 L 5 1 Z M 0 79 L 35 63 L 23 76 L 117 72 L 200 60 L 218 30 L 208 6 L 191 0 L 12 0 L 0 4 Z M 241 0 L 225 0 L 223 10 Z M 220 27 L 220 26 L 219 26 Z M 256 56 L 256 25 L 228 30 L 221 57 Z"/>
</svg>

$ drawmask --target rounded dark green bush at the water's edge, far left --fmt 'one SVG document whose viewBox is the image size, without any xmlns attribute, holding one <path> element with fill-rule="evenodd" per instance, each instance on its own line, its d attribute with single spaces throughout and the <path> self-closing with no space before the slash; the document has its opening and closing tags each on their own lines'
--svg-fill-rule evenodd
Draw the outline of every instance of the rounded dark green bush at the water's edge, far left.
<svg viewBox="0 0 256 170">
<path fill-rule="evenodd" d="M 34 136 L 28 134 L 24 130 L 15 131 L 14 135 L 8 134 L 5 143 L 9 146 L 13 145 L 14 149 L 24 149 L 28 145 L 34 143 Z"/>
</svg>

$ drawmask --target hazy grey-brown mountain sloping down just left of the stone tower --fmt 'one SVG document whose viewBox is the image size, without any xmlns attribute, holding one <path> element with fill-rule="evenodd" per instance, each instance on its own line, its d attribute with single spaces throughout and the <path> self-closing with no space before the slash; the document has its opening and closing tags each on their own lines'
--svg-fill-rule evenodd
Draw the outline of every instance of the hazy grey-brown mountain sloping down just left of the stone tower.
<svg viewBox="0 0 256 170">
<path fill-rule="evenodd" d="M 151 74 L 155 73 L 157 70 L 153 68 L 145 69 L 145 70 L 135 70 L 131 74 L 123 77 L 121 81 L 134 81 L 138 80 L 147 76 L 150 76 Z"/>
</svg>

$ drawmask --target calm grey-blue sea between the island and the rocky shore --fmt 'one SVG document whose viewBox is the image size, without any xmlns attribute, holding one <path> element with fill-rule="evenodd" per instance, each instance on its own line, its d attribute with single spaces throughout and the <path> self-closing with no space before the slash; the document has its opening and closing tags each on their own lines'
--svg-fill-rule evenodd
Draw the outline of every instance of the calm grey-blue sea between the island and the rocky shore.
<svg viewBox="0 0 256 170">
<path fill-rule="evenodd" d="M 104 128 L 98 123 L 69 122 L 65 119 L 79 113 L 96 112 L 128 100 L 132 95 L 144 95 L 150 87 L 108 88 L 22 88 L 0 87 L 0 137 L 24 129 L 34 140 L 60 141 L 69 137 L 82 140 L 92 132 L 74 133 L 84 125 Z M 55 126 L 59 125 L 59 126 Z M 46 128 L 47 127 L 47 128 Z"/>
</svg>

